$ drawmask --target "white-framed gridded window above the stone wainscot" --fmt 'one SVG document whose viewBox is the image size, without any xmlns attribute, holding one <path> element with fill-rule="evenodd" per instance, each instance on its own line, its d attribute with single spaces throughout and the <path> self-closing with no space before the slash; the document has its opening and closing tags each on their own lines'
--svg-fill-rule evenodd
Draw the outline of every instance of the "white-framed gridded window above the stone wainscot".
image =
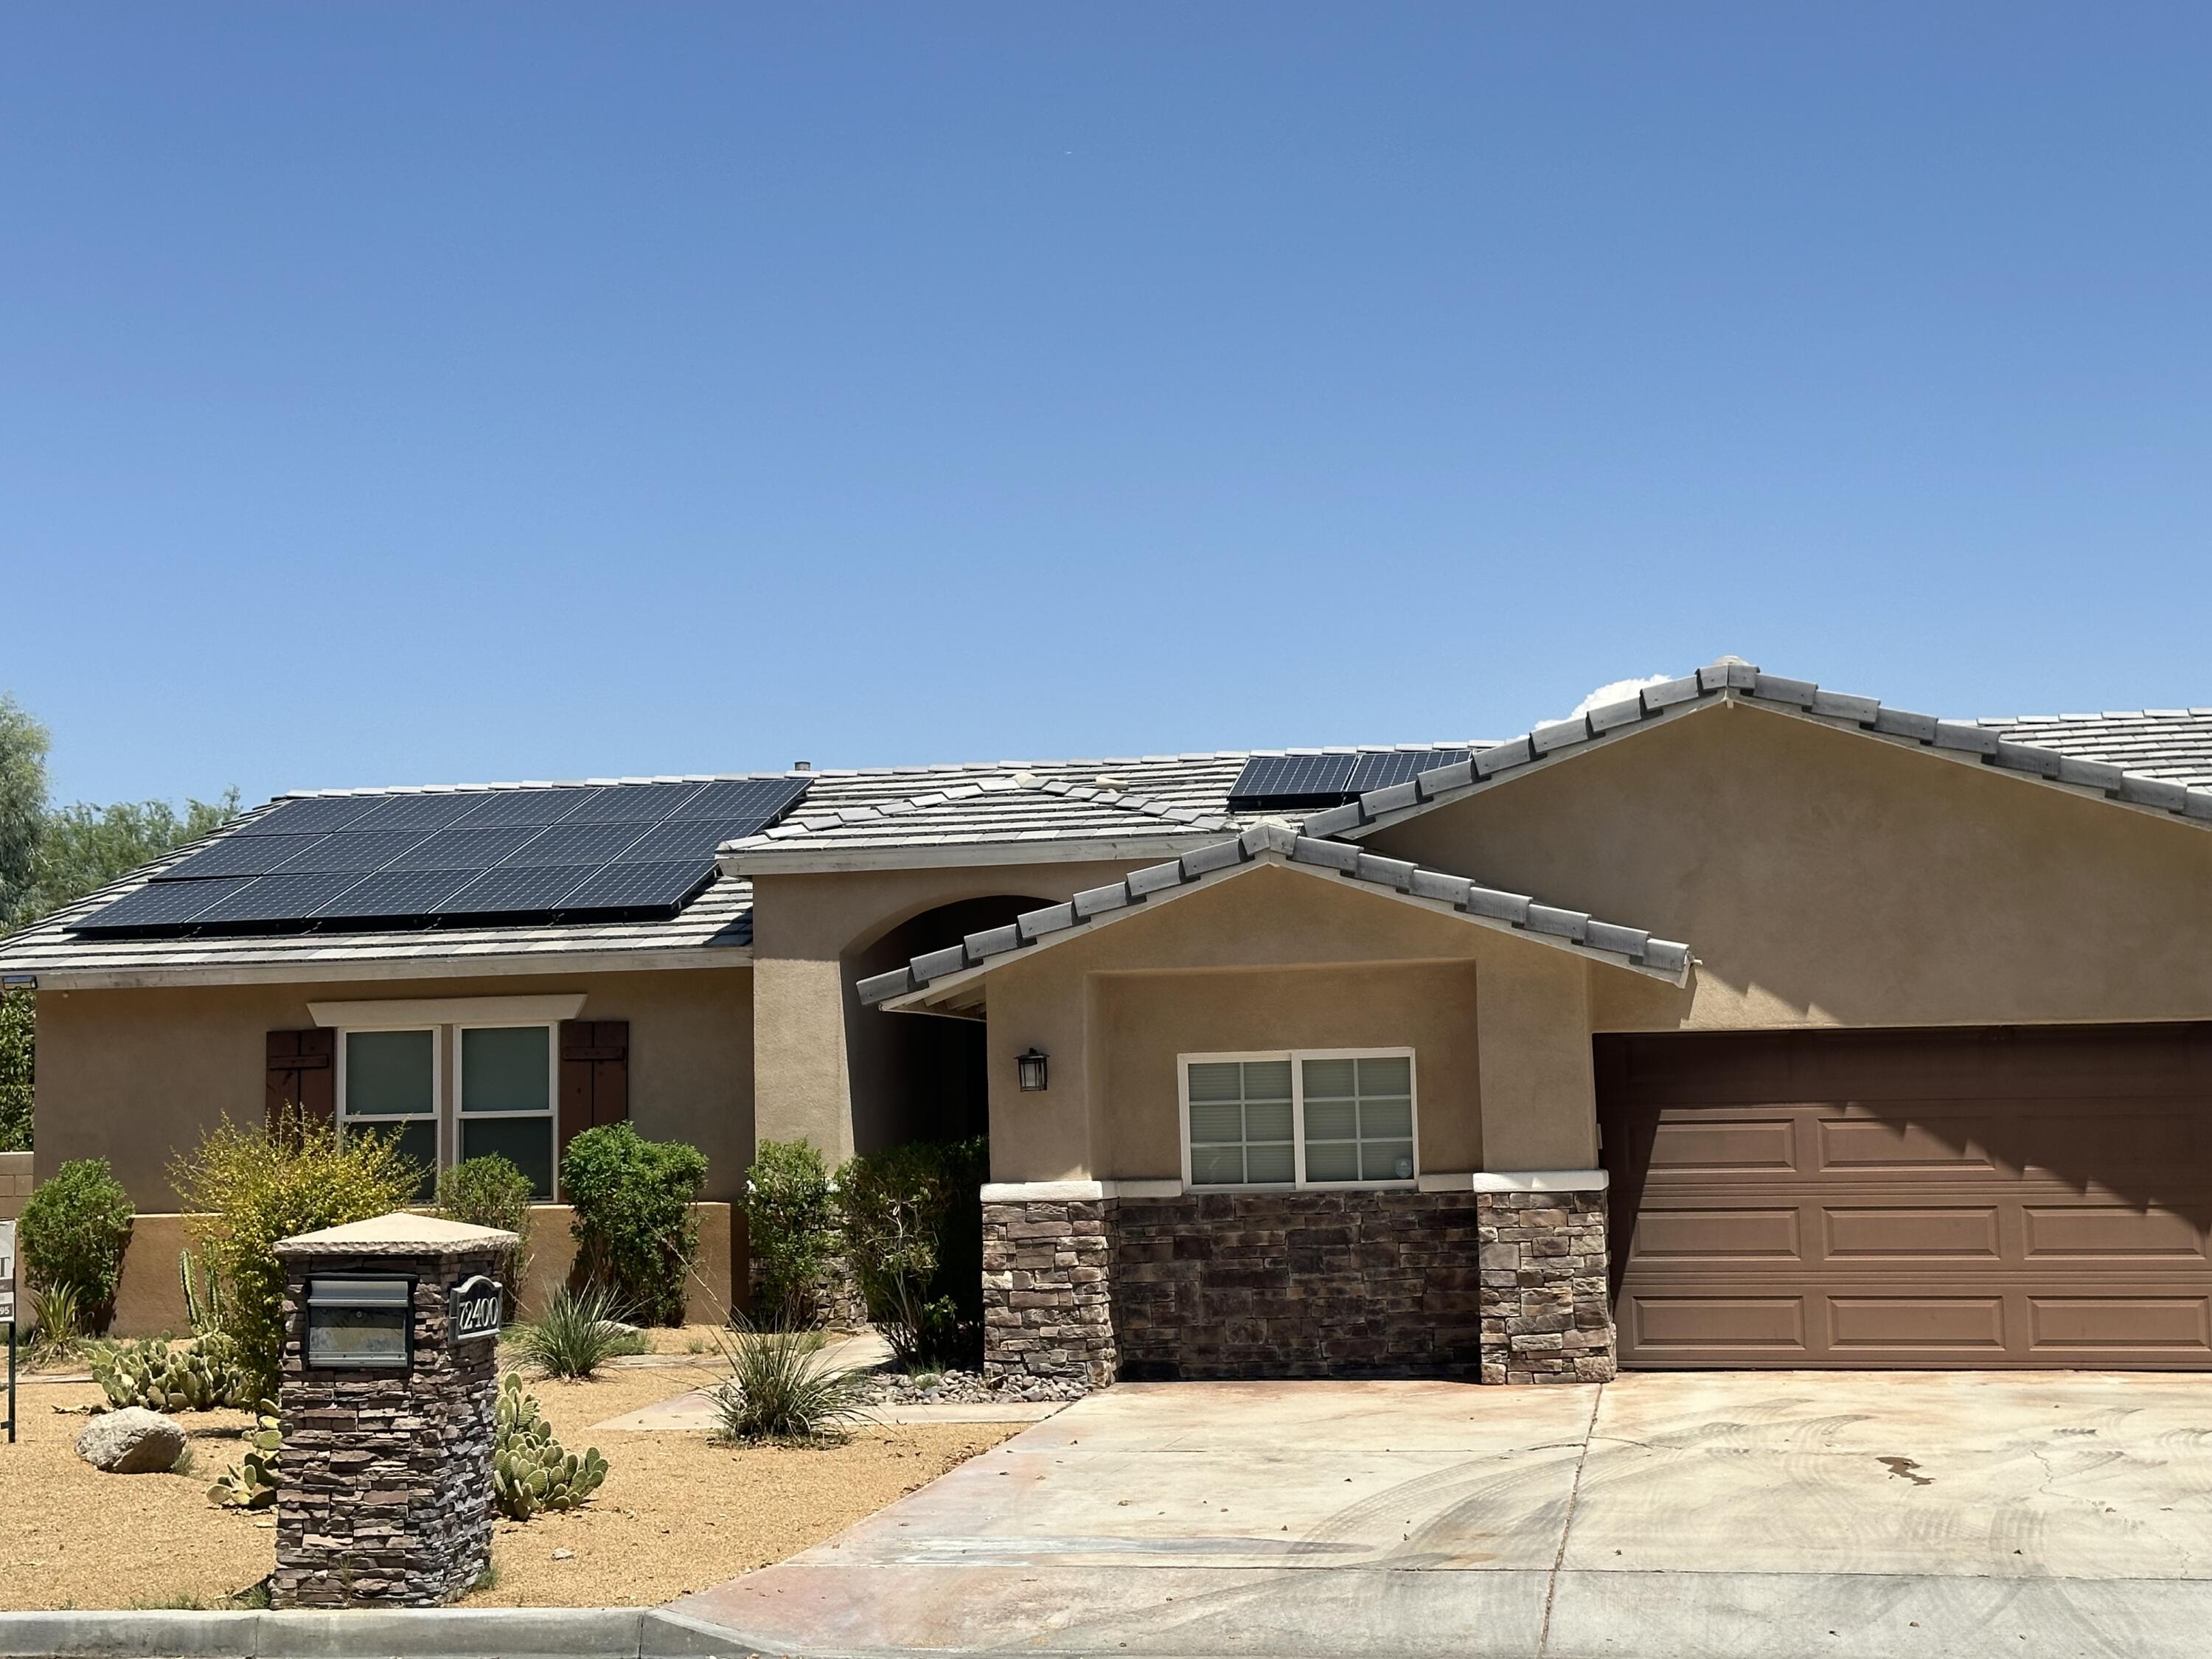
<svg viewBox="0 0 2212 1659">
<path fill-rule="evenodd" d="M 1177 1055 L 1183 1186 L 1413 1186 L 1411 1048 Z"/>
</svg>

